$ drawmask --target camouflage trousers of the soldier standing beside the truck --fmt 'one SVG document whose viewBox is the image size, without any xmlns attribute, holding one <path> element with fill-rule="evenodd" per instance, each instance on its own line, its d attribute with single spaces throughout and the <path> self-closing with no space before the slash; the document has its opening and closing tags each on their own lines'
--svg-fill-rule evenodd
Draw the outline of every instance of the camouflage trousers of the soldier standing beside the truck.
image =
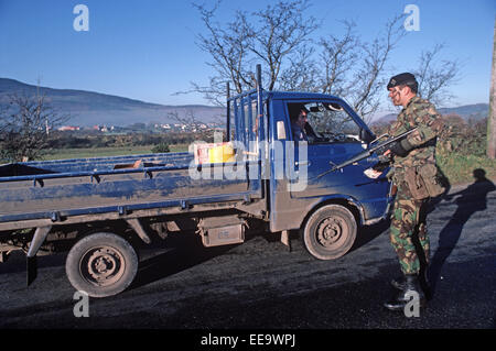
<svg viewBox="0 0 496 351">
<path fill-rule="evenodd" d="M 389 234 L 403 274 L 419 274 L 429 264 L 425 207 L 427 199 L 416 200 L 405 184 L 398 186 Z"/>
</svg>

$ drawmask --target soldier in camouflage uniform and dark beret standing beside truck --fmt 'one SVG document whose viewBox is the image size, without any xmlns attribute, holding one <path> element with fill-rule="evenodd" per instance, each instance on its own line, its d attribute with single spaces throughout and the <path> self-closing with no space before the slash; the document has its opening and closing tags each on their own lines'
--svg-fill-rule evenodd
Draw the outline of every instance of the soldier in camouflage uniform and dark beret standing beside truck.
<svg viewBox="0 0 496 351">
<path fill-rule="evenodd" d="M 417 293 L 420 306 L 425 304 L 427 267 L 429 264 L 429 235 L 425 222 L 425 204 L 439 196 L 444 188 L 435 164 L 436 136 L 443 122 L 434 106 L 417 96 L 418 83 L 410 73 L 392 77 L 387 85 L 389 98 L 395 106 L 402 106 L 389 135 L 398 135 L 417 127 L 400 142 L 386 151 L 390 160 L 388 177 L 397 187 L 390 224 L 390 241 L 395 249 L 402 278 L 391 284 L 399 294 L 385 303 L 391 310 L 403 310 Z"/>
</svg>

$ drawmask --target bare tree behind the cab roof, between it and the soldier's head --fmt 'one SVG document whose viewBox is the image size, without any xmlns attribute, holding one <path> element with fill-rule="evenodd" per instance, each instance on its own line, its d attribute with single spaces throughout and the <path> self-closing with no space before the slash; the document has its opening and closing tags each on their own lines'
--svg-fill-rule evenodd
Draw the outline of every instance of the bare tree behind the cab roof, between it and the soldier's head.
<svg viewBox="0 0 496 351">
<path fill-rule="evenodd" d="M 379 108 L 390 54 L 406 35 L 402 17 L 388 21 L 385 31 L 370 43 L 363 42 L 356 34 L 355 23 L 342 23 L 342 36 L 321 37 L 316 58 L 311 56 L 312 48 L 308 50 L 309 55 L 291 62 L 282 75 L 280 87 L 339 96 L 367 121 Z"/>
</svg>

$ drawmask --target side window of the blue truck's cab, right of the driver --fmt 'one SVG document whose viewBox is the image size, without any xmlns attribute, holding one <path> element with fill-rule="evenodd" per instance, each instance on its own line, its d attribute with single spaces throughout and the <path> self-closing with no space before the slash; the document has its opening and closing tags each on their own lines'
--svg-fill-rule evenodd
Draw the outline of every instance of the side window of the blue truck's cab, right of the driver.
<svg viewBox="0 0 496 351">
<path fill-rule="evenodd" d="M 349 143 L 360 142 L 360 128 L 353 118 L 336 102 L 314 102 L 305 105 L 309 124 L 316 138 L 309 143 Z"/>
</svg>

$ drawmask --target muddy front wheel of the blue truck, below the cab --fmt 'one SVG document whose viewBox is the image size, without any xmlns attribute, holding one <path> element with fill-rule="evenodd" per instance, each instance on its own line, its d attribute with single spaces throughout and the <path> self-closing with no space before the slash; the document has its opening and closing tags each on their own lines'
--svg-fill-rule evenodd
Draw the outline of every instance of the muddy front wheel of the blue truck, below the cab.
<svg viewBox="0 0 496 351">
<path fill-rule="evenodd" d="M 344 206 L 327 205 L 310 216 L 303 228 L 303 244 L 319 260 L 335 260 L 352 249 L 357 223 Z"/>
</svg>

